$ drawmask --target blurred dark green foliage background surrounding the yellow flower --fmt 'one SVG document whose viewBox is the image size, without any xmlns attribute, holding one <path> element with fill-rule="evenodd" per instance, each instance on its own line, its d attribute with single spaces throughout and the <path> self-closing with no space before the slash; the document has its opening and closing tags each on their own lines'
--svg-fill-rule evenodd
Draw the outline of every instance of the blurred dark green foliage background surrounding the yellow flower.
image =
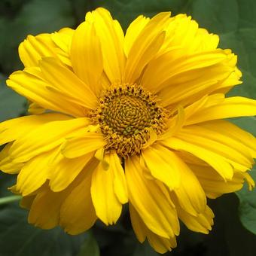
<svg viewBox="0 0 256 256">
<path fill-rule="evenodd" d="M 222 48 L 239 57 L 243 84 L 230 95 L 256 98 L 256 1 L 254 0 L 1 0 L 0 1 L 0 121 L 26 114 L 26 100 L 6 87 L 11 72 L 23 69 L 17 47 L 27 35 L 78 26 L 87 11 L 102 6 L 111 11 L 125 31 L 139 14 L 152 17 L 160 11 L 185 13 L 220 35 Z M 232 120 L 256 135 L 256 118 Z M 251 175 L 256 179 L 256 169 Z M 0 173 L 0 198 L 15 177 Z M 165 255 L 254 256 L 256 254 L 256 191 L 244 187 L 236 194 L 209 200 L 215 226 L 209 235 L 181 226 L 178 247 Z M 147 242 L 139 244 L 129 215 L 114 227 L 96 223 L 79 236 L 60 228 L 40 230 L 27 224 L 27 212 L 18 203 L 0 205 L 0 256 L 156 256 Z"/>
</svg>

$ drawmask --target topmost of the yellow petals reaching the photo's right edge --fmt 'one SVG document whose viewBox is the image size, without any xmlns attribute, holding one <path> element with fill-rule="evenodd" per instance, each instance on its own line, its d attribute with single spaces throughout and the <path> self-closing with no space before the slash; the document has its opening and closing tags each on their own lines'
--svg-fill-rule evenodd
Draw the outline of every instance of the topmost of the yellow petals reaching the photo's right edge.
<svg viewBox="0 0 256 256">
<path fill-rule="evenodd" d="M 246 117 L 256 114 L 256 100 L 244 97 L 230 97 L 222 102 L 203 105 L 186 120 L 186 124 L 201 123 L 230 117 Z"/>
</svg>

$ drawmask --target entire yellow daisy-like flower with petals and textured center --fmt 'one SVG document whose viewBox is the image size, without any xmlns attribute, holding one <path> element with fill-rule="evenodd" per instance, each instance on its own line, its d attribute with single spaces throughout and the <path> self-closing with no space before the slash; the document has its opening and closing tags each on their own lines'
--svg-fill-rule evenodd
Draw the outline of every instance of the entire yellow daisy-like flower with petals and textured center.
<svg viewBox="0 0 256 256">
<path fill-rule="evenodd" d="M 0 169 L 29 209 L 29 223 L 78 234 L 115 224 L 129 203 L 133 229 L 160 253 L 176 246 L 179 220 L 209 233 L 206 198 L 239 190 L 256 139 L 225 118 L 256 114 L 226 97 L 241 72 L 184 14 L 139 16 L 123 34 L 103 8 L 77 29 L 29 35 L 25 69 L 7 83 L 29 99 L 25 117 L 0 124 Z"/>
</svg>

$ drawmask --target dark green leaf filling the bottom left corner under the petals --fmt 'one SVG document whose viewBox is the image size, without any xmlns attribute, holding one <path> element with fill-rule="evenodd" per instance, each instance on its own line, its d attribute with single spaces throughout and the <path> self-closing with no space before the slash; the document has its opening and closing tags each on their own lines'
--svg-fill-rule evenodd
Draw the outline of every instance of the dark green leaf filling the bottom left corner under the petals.
<svg viewBox="0 0 256 256">
<path fill-rule="evenodd" d="M 69 236 L 61 228 L 41 230 L 27 223 L 24 209 L 8 207 L 0 211 L 0 255 L 72 256 L 78 254 L 87 234 Z"/>
</svg>

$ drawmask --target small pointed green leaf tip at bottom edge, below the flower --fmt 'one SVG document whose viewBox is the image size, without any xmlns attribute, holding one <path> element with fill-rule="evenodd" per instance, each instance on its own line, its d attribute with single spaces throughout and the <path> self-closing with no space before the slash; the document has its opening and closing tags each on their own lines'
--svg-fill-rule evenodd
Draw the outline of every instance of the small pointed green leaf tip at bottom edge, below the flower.
<svg viewBox="0 0 256 256">
<path fill-rule="evenodd" d="M 92 232 L 87 232 L 87 238 L 81 245 L 81 251 L 78 256 L 99 256 L 99 245 Z"/>
</svg>

